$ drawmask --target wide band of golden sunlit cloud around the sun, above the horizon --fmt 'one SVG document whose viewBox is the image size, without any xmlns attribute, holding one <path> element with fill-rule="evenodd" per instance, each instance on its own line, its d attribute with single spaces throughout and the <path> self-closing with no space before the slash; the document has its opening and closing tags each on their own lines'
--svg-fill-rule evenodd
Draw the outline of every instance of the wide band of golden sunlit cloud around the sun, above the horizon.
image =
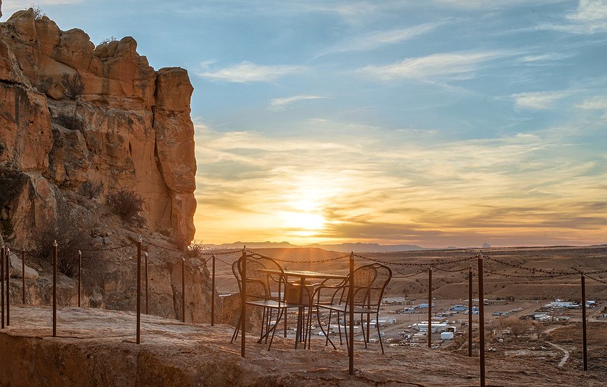
<svg viewBox="0 0 607 387">
<path fill-rule="evenodd" d="M 596 182 L 607 178 L 607 160 L 578 160 L 575 144 L 550 142 L 547 135 L 432 146 L 407 137 L 394 141 L 377 128 L 368 128 L 358 144 L 339 135 L 327 142 L 202 126 L 197 136 L 204 144 L 198 153 L 199 212 L 213 214 L 199 228 L 213 241 L 232 242 L 234 234 L 278 241 L 278 235 L 301 244 L 439 247 L 512 238 L 571 243 L 607 231 L 603 212 L 588 211 L 606 205 L 605 188 Z"/>
</svg>

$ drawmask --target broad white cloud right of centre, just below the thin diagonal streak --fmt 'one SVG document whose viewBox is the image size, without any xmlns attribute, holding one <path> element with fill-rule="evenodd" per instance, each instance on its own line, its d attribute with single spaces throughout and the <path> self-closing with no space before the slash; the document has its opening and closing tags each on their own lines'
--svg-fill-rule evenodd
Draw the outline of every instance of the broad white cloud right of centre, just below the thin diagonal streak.
<svg viewBox="0 0 607 387">
<path fill-rule="evenodd" d="M 361 75 L 394 81 L 398 79 L 468 79 L 483 63 L 511 55 L 511 52 L 453 52 L 405 59 L 388 66 L 366 66 Z"/>
</svg>

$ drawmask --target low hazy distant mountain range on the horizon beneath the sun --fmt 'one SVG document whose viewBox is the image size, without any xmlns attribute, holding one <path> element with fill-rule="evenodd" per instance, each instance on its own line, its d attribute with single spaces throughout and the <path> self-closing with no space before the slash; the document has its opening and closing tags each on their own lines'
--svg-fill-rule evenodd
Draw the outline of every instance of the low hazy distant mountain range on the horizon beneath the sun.
<svg viewBox="0 0 607 387">
<path fill-rule="evenodd" d="M 422 248 L 418 245 L 380 245 L 378 243 L 340 243 L 338 245 L 293 245 L 289 242 L 234 242 L 223 243 L 221 245 L 209 245 L 212 249 L 239 249 L 246 246 L 250 249 L 261 248 L 321 248 L 323 250 L 337 252 L 394 252 L 394 251 L 413 251 L 413 250 L 431 250 Z"/>
</svg>

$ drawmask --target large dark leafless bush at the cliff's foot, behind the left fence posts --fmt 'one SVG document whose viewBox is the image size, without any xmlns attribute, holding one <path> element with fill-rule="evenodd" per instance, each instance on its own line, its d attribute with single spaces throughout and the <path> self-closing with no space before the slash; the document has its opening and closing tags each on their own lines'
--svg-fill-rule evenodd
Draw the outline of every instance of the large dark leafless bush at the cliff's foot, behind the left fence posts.
<svg viewBox="0 0 607 387">
<path fill-rule="evenodd" d="M 36 257 L 41 261 L 52 263 L 54 255 L 54 241 L 57 241 L 57 270 L 75 277 L 78 274 L 78 249 L 90 248 L 92 241 L 87 227 L 82 220 L 69 215 L 60 216 L 54 224 L 37 229 L 33 234 L 33 245 Z"/>
</svg>

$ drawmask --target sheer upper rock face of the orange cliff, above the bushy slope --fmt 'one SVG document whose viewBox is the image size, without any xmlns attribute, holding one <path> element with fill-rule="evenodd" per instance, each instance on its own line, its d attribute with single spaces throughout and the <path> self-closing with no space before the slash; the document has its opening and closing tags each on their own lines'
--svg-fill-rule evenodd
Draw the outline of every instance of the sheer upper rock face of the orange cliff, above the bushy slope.
<svg viewBox="0 0 607 387">
<path fill-rule="evenodd" d="M 105 201 L 121 188 L 144 199 L 149 232 L 189 242 L 195 229 L 195 158 L 186 70 L 154 71 L 126 37 L 95 47 L 33 10 L 15 13 L 0 43 L 0 193 L 19 238 L 56 218 L 56 202 L 82 185 Z M 66 95 L 66 79 L 84 89 Z M 73 125 L 76 123 L 77 125 Z M 17 176 L 18 174 L 18 176 Z M 0 181 L 8 185 L 8 181 Z"/>
</svg>

